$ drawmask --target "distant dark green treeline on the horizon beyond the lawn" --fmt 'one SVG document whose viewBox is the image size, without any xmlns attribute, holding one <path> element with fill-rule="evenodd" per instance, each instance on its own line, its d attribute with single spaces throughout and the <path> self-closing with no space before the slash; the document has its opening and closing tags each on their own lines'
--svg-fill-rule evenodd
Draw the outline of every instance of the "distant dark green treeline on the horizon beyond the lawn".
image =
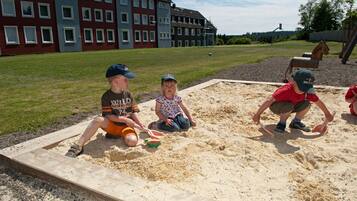
<svg viewBox="0 0 357 201">
<path fill-rule="evenodd" d="M 217 45 L 272 43 L 295 38 L 296 31 L 246 33 L 243 35 L 217 35 Z"/>
</svg>

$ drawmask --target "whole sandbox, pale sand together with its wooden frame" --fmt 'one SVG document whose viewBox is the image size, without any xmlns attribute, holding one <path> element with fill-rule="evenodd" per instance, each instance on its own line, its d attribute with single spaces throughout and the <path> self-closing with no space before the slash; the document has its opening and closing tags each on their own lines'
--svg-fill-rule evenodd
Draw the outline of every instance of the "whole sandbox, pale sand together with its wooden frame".
<svg viewBox="0 0 357 201">
<path fill-rule="evenodd" d="M 335 120 L 324 136 L 269 136 L 251 115 L 280 84 L 211 80 L 179 92 L 197 121 L 158 149 L 127 148 L 99 131 L 77 159 L 64 157 L 88 121 L 0 152 L 10 166 L 105 200 L 357 200 L 357 127 L 346 88 L 318 86 Z M 140 104 L 145 124 L 154 101 Z M 313 106 L 305 123 L 320 123 Z M 262 122 L 278 117 L 267 111 Z M 141 134 L 144 138 L 145 134 Z"/>
</svg>

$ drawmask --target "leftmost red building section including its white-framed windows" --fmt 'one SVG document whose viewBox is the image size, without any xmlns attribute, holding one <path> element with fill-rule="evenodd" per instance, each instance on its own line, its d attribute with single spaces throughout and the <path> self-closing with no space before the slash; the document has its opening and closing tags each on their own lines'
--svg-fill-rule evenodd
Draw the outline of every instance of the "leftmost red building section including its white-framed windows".
<svg viewBox="0 0 357 201">
<path fill-rule="evenodd" d="M 58 51 L 53 0 L 0 0 L 0 55 Z"/>
</svg>

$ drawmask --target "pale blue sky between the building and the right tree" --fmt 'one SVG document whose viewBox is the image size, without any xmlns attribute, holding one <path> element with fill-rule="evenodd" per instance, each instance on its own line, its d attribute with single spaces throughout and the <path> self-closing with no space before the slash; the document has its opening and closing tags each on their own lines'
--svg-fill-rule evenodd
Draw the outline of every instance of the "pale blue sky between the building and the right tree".
<svg viewBox="0 0 357 201">
<path fill-rule="evenodd" d="M 300 4 L 308 0 L 173 0 L 177 7 L 200 11 L 219 34 L 272 31 L 283 24 L 294 31 L 300 20 Z"/>
</svg>

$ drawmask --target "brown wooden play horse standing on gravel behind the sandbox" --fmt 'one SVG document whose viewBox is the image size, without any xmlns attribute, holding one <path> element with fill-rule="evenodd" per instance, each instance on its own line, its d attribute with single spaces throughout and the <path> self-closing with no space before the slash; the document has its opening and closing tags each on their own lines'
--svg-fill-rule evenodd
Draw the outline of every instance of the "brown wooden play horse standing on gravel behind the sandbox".
<svg viewBox="0 0 357 201">
<path fill-rule="evenodd" d="M 305 52 L 302 57 L 293 57 L 285 70 L 284 82 L 288 82 L 288 75 L 291 75 L 293 68 L 318 68 L 323 55 L 327 55 L 329 51 L 326 42 L 320 41 L 311 53 Z"/>
</svg>

